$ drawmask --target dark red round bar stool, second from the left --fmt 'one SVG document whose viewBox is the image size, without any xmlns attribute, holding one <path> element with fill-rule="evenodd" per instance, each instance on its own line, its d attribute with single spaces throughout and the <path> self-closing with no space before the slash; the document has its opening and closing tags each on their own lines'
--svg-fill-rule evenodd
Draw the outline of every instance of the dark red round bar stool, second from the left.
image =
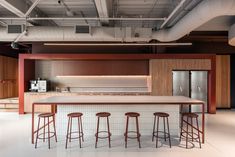
<svg viewBox="0 0 235 157">
<path fill-rule="evenodd" d="M 82 115 L 83 114 L 80 112 L 69 113 L 67 115 L 69 120 L 68 120 L 67 134 L 66 134 L 66 144 L 65 144 L 66 149 L 68 146 L 68 141 L 71 142 L 72 139 L 79 139 L 79 147 L 82 148 L 81 139 L 84 142 L 84 134 L 83 134 L 83 128 L 82 128 Z M 73 119 L 77 119 L 77 122 L 78 122 L 77 131 L 72 130 Z M 73 134 L 78 134 L 78 136 L 72 137 Z"/>
</svg>

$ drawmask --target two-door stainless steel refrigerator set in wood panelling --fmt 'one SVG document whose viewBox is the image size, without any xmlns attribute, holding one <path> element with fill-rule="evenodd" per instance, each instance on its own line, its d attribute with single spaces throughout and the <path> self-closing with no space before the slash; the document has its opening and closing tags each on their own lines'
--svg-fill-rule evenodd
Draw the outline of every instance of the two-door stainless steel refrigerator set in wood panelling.
<svg viewBox="0 0 235 157">
<path fill-rule="evenodd" d="M 207 71 L 173 71 L 173 95 L 182 95 L 194 99 L 202 100 L 206 103 L 205 112 L 207 112 Z M 191 108 L 184 107 L 183 111 L 201 112 L 198 105 L 192 105 Z"/>
</svg>

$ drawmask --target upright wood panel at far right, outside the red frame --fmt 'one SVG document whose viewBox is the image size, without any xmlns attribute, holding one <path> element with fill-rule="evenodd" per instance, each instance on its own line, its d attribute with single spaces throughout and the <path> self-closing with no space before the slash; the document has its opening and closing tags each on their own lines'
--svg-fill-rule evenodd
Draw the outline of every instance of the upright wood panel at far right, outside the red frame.
<svg viewBox="0 0 235 157">
<path fill-rule="evenodd" d="M 230 56 L 216 56 L 216 107 L 230 108 Z"/>
</svg>

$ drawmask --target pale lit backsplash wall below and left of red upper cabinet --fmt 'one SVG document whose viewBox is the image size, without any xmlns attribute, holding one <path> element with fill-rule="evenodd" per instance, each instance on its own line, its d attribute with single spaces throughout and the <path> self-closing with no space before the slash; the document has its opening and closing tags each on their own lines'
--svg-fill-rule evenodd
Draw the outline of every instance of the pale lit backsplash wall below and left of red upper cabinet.
<svg viewBox="0 0 235 157">
<path fill-rule="evenodd" d="M 151 92 L 149 75 L 72 75 L 55 76 L 51 62 L 36 62 L 35 78 L 48 80 L 52 91 L 70 92 Z"/>
</svg>

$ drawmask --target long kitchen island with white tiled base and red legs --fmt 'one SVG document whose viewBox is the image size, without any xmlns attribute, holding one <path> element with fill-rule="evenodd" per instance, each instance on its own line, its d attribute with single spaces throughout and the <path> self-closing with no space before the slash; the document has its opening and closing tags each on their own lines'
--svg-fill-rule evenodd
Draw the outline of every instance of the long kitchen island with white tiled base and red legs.
<svg viewBox="0 0 235 157">
<path fill-rule="evenodd" d="M 152 120 L 153 120 L 153 112 L 168 112 L 170 114 L 170 128 L 175 129 L 174 133 L 179 135 L 179 118 L 180 118 L 180 105 L 201 105 L 202 109 L 202 116 L 201 116 L 201 133 L 202 133 L 202 142 L 204 143 L 204 102 L 200 100 L 191 99 L 188 97 L 183 96 L 53 96 L 45 99 L 41 99 L 38 101 L 33 102 L 32 104 L 32 143 L 34 143 L 34 135 L 36 130 L 34 129 L 34 112 L 35 107 L 40 105 L 51 105 L 52 109 L 57 106 L 57 124 L 59 127 L 66 127 L 61 121 L 67 121 L 66 114 L 68 112 L 83 112 L 82 108 L 85 106 L 85 110 L 87 114 L 84 114 L 84 118 L 91 113 L 100 112 L 100 111 L 107 111 L 111 112 L 112 115 L 119 117 L 119 119 L 114 120 L 114 122 L 121 121 L 123 123 L 125 121 L 125 112 L 129 111 L 136 111 L 140 112 L 141 116 L 143 117 L 142 124 L 148 124 L 143 126 L 142 128 L 148 128 L 149 133 L 151 133 L 152 129 Z M 75 108 L 74 108 L 75 107 Z M 78 108 L 76 108 L 78 107 Z M 55 110 L 52 110 L 55 112 Z M 66 114 L 65 114 L 66 113 Z M 93 115 L 93 114 L 92 114 Z M 63 116 L 63 117 L 62 117 Z M 91 118 L 92 116 L 90 116 Z M 60 119 L 61 118 L 61 119 Z M 140 117 L 141 118 L 141 117 Z M 90 124 L 86 124 L 84 122 L 84 127 L 95 127 L 95 118 L 93 117 L 94 121 L 88 120 Z M 172 121 L 172 122 L 171 122 Z M 116 128 L 119 128 L 115 134 L 120 134 L 123 131 L 120 125 L 121 123 L 116 123 Z M 61 125 L 61 126 L 60 126 Z M 140 124 L 141 127 L 141 124 Z M 61 129 L 60 129 L 61 130 Z M 93 130 L 92 128 L 87 128 L 87 130 Z M 85 129 L 86 131 L 86 129 Z M 84 134 L 86 132 L 84 131 Z M 148 131 L 144 132 L 147 134 Z M 151 135 L 151 134 L 150 134 Z"/>
</svg>

